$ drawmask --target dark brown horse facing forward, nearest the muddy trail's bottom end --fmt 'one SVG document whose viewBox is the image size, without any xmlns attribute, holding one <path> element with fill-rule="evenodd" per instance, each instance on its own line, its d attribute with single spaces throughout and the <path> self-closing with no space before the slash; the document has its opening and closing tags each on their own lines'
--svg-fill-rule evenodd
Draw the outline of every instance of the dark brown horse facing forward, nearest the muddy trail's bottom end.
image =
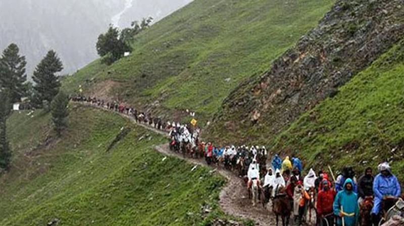
<svg viewBox="0 0 404 226">
<path fill-rule="evenodd" d="M 290 200 L 286 195 L 285 187 L 279 187 L 276 189 L 272 209 L 276 215 L 276 226 L 278 226 L 279 216 L 282 218 L 282 226 L 287 226 L 289 224 L 292 207 L 290 206 Z"/>
</svg>

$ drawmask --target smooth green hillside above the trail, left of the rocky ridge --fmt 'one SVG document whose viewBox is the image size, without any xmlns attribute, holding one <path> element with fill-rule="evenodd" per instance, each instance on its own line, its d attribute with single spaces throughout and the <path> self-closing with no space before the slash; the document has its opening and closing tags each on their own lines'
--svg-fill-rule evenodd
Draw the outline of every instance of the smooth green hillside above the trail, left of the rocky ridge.
<svg viewBox="0 0 404 226">
<path fill-rule="evenodd" d="M 63 85 L 137 106 L 158 100 L 161 114 L 192 109 L 208 119 L 240 81 L 267 70 L 333 3 L 196 0 L 140 34 L 130 57 L 110 67 L 95 61 Z"/>
</svg>

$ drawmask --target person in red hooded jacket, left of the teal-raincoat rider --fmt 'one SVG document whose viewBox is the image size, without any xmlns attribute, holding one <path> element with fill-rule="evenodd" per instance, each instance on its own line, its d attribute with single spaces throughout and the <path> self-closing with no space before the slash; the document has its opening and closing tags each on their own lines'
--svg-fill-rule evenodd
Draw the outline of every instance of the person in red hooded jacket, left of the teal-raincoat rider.
<svg viewBox="0 0 404 226">
<path fill-rule="evenodd" d="M 323 218 L 326 218 L 328 225 L 334 225 L 334 215 L 330 214 L 333 212 L 333 202 L 335 197 L 335 190 L 329 187 L 329 181 L 323 179 L 321 182 L 323 189 L 318 193 L 317 196 L 317 215 L 319 222 L 322 222 Z M 321 224 L 320 224 L 321 225 Z"/>
</svg>

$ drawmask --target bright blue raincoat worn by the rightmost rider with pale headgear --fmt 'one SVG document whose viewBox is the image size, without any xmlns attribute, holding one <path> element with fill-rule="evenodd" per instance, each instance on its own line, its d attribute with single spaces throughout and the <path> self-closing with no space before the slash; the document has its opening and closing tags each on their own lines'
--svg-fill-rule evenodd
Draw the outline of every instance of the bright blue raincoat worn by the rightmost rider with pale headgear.
<svg viewBox="0 0 404 226">
<path fill-rule="evenodd" d="M 373 182 L 373 193 L 375 199 L 372 213 L 378 214 L 380 212 L 383 196 L 399 197 L 401 195 L 400 184 L 398 183 L 397 178 L 392 174 L 388 177 L 378 174 Z"/>
</svg>

